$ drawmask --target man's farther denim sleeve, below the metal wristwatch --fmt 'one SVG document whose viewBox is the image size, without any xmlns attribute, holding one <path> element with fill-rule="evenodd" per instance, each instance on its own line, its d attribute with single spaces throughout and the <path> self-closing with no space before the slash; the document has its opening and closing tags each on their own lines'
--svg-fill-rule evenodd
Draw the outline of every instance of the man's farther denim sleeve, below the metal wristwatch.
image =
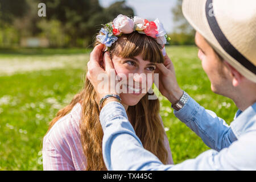
<svg viewBox="0 0 256 182">
<path fill-rule="evenodd" d="M 214 150 L 220 151 L 237 140 L 224 119 L 217 117 L 213 111 L 204 109 L 191 97 L 179 111 L 174 111 L 174 114 Z"/>
</svg>

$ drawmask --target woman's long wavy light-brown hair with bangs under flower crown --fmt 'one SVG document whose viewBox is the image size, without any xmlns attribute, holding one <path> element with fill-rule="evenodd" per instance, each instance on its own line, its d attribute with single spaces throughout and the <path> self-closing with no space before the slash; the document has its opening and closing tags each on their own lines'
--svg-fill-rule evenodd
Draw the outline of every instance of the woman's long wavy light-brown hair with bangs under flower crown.
<svg viewBox="0 0 256 182">
<path fill-rule="evenodd" d="M 97 40 L 94 46 L 98 44 Z M 121 51 L 122 50 L 122 51 Z M 133 32 L 122 35 L 110 49 L 111 55 L 134 57 L 142 54 L 143 60 L 163 63 L 161 47 L 154 38 Z M 155 154 L 161 162 L 167 163 L 168 152 L 164 146 L 164 129 L 159 118 L 159 100 L 148 100 L 147 93 L 135 106 L 129 106 L 126 113 L 143 147 Z M 106 170 L 102 156 L 103 131 L 100 123 L 97 94 L 88 78 L 84 88 L 73 97 L 69 105 L 59 110 L 49 123 L 49 129 L 78 102 L 82 106 L 80 121 L 81 144 L 87 160 L 86 170 Z M 48 132 L 47 131 L 47 132 Z"/>
</svg>

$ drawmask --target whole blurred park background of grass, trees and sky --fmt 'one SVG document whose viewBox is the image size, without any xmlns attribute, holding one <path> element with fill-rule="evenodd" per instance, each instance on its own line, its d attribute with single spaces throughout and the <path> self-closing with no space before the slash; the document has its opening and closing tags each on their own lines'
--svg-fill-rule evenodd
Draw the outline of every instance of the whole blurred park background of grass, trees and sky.
<svg viewBox="0 0 256 182">
<path fill-rule="evenodd" d="M 159 18 L 171 38 L 166 49 L 180 87 L 230 123 L 237 108 L 210 90 L 181 2 L 0 0 L 0 170 L 43 169 L 48 123 L 81 90 L 93 39 L 118 14 Z M 175 118 L 170 102 L 159 100 L 174 163 L 208 150 Z"/>
</svg>

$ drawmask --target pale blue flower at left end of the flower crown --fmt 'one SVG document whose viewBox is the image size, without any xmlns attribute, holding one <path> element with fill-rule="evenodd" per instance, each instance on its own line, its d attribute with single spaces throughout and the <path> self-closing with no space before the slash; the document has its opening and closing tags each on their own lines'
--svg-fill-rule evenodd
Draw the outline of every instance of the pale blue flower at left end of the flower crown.
<svg viewBox="0 0 256 182">
<path fill-rule="evenodd" d="M 105 28 L 101 28 L 100 35 L 96 36 L 97 40 L 102 44 L 105 44 L 106 47 L 111 47 L 112 44 L 117 41 L 117 36 L 114 36 Z"/>
</svg>

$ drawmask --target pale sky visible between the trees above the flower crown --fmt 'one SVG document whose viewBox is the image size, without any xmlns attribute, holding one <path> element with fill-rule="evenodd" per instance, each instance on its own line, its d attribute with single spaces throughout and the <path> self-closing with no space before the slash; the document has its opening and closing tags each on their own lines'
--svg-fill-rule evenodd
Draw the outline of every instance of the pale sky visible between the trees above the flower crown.
<svg viewBox="0 0 256 182">
<path fill-rule="evenodd" d="M 108 7 L 116 1 L 118 0 L 99 0 L 103 7 Z M 148 20 L 158 18 L 166 32 L 172 32 L 174 22 L 171 9 L 176 5 L 176 0 L 126 0 L 126 5 L 133 8 L 135 16 Z"/>
</svg>

